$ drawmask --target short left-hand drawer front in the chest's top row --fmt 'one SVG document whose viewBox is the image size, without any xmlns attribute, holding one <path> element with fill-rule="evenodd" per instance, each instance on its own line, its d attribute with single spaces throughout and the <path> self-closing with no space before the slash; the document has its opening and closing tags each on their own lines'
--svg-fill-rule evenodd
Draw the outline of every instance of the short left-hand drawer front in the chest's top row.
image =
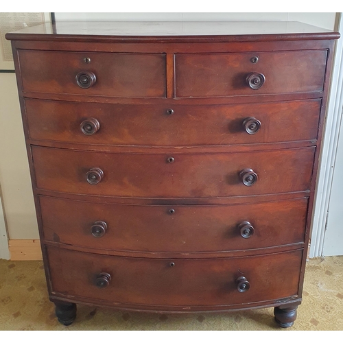
<svg viewBox="0 0 343 343">
<path fill-rule="evenodd" d="M 19 50 L 19 62 L 24 92 L 165 97 L 165 54 Z M 95 75 L 89 88 L 78 86 L 76 80 L 84 72 Z"/>
</svg>

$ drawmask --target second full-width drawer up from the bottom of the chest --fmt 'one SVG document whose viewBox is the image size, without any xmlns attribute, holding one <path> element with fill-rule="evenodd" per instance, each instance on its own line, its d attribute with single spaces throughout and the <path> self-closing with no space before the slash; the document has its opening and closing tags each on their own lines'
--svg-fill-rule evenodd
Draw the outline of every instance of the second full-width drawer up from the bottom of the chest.
<svg viewBox="0 0 343 343">
<path fill-rule="evenodd" d="M 302 243 L 307 198 L 234 205 L 103 204 L 40 196 L 46 241 L 139 252 L 220 252 Z"/>
</svg>

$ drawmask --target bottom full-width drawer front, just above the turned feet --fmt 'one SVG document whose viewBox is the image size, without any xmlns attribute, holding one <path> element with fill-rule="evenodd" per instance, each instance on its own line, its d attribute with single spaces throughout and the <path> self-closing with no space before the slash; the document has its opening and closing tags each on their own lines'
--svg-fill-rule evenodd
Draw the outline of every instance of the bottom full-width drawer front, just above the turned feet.
<svg viewBox="0 0 343 343">
<path fill-rule="evenodd" d="M 180 260 L 108 257 L 53 247 L 47 252 L 53 292 L 117 305 L 166 307 L 241 305 L 296 296 L 303 257 L 303 250 Z M 107 287 L 96 285 L 106 285 L 101 273 L 110 274 Z M 250 283 L 248 291 L 238 291 L 239 276 Z"/>
</svg>

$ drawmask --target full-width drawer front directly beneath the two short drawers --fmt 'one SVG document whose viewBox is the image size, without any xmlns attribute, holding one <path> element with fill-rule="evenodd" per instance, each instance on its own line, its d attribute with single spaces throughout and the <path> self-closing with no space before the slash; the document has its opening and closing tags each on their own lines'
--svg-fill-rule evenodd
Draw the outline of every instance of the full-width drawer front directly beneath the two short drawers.
<svg viewBox="0 0 343 343">
<path fill-rule="evenodd" d="M 109 145 L 313 140 L 317 137 L 320 105 L 320 99 L 224 106 L 132 106 L 25 99 L 30 138 Z M 169 109 L 172 115 L 167 113 Z"/>
</svg>

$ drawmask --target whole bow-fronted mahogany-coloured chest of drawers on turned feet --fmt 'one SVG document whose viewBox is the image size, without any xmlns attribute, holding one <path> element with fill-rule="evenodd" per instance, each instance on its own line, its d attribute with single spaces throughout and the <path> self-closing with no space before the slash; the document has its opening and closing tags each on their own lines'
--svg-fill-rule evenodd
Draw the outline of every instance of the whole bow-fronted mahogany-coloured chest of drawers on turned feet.
<svg viewBox="0 0 343 343">
<path fill-rule="evenodd" d="M 7 35 L 62 324 L 76 303 L 296 318 L 339 35 L 188 25 Z"/>
</svg>

